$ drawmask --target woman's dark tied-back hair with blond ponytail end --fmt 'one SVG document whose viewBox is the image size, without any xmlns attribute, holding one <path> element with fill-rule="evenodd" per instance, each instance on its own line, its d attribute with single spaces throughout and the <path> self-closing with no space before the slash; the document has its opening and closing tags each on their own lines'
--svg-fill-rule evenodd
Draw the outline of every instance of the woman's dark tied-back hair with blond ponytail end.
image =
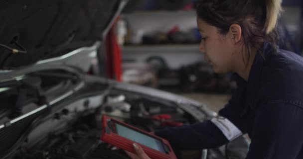
<svg viewBox="0 0 303 159">
<path fill-rule="evenodd" d="M 232 24 L 242 28 L 244 45 L 251 57 L 251 47 L 269 42 L 277 52 L 277 21 L 282 0 L 200 0 L 197 16 L 226 34 Z M 243 56 L 244 57 L 244 56 Z M 245 62 L 245 59 L 243 59 Z"/>
</svg>

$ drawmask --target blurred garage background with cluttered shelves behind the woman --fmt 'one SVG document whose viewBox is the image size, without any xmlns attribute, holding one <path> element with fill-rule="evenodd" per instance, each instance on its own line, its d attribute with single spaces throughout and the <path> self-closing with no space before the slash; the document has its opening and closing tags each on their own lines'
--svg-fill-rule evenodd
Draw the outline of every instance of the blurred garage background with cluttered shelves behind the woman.
<svg viewBox="0 0 303 159">
<path fill-rule="evenodd" d="M 235 85 L 231 75 L 214 74 L 199 52 L 195 2 L 134 0 L 127 4 L 116 25 L 121 79 L 180 94 L 218 112 Z M 284 0 L 283 9 L 279 28 L 282 48 L 302 55 L 301 3 Z"/>
</svg>

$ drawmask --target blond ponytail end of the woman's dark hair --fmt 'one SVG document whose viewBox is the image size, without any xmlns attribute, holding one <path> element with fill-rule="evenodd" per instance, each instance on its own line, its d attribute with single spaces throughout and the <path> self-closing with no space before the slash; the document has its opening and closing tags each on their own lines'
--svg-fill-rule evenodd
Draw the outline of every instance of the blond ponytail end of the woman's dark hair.
<svg viewBox="0 0 303 159">
<path fill-rule="evenodd" d="M 264 30 L 270 34 L 277 27 L 278 18 L 282 12 L 282 0 L 265 0 L 266 1 L 266 21 Z"/>
</svg>

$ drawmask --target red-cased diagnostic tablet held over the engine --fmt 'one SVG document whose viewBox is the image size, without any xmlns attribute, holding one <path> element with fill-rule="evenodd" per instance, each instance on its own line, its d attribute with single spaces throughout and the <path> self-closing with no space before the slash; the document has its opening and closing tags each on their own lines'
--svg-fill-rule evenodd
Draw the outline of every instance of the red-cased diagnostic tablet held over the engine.
<svg viewBox="0 0 303 159">
<path fill-rule="evenodd" d="M 136 143 L 152 159 L 176 159 L 173 150 L 165 139 L 106 115 L 102 116 L 101 140 L 134 154 L 136 153 L 133 143 Z"/>
</svg>

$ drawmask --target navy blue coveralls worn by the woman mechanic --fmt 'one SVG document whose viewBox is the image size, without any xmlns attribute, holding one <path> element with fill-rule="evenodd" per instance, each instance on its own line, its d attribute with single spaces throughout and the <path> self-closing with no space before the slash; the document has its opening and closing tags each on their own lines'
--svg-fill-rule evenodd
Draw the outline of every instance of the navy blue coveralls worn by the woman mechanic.
<svg viewBox="0 0 303 159">
<path fill-rule="evenodd" d="M 251 138 L 246 159 L 303 159 L 303 58 L 265 43 L 248 81 L 236 77 L 237 90 L 219 111 Z M 166 128 L 155 135 L 178 150 L 222 146 L 229 140 L 211 121 Z"/>
</svg>

